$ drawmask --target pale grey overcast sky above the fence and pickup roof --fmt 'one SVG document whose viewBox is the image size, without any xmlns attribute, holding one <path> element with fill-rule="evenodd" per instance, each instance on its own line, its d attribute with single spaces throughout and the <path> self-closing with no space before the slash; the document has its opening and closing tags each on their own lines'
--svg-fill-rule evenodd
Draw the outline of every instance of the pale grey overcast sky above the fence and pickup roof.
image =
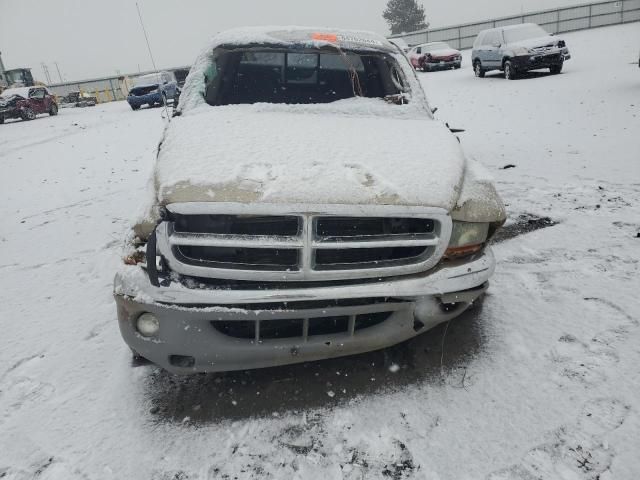
<svg viewBox="0 0 640 480">
<path fill-rule="evenodd" d="M 418 0 L 420 1 L 420 0 Z M 581 3 L 582 0 L 423 0 L 432 27 Z M 243 25 L 312 25 L 388 34 L 387 0 L 138 0 L 159 68 L 188 65 L 216 32 Z M 135 0 L 0 0 L 6 68 L 52 82 L 151 68 Z"/>
</svg>

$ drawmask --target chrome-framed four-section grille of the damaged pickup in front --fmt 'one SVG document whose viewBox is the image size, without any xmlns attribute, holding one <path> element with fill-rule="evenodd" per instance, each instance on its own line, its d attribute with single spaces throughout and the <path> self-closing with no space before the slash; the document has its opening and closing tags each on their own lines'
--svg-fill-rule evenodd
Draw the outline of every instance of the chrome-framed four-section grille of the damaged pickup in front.
<svg viewBox="0 0 640 480">
<path fill-rule="evenodd" d="M 202 278 L 372 278 L 433 267 L 451 233 L 446 211 L 419 207 L 173 204 L 156 230 L 172 271 Z"/>
</svg>

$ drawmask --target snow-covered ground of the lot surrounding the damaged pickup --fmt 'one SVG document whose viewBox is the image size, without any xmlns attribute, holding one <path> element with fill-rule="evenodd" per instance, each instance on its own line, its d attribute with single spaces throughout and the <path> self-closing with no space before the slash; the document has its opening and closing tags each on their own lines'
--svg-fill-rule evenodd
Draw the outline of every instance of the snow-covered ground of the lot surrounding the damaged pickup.
<svg viewBox="0 0 640 480">
<path fill-rule="evenodd" d="M 111 280 L 161 110 L 1 126 L 0 478 L 636 479 L 640 28 L 565 37 L 560 76 L 419 73 L 510 221 L 560 223 L 498 244 L 448 327 L 315 364 L 133 366 Z"/>
</svg>

